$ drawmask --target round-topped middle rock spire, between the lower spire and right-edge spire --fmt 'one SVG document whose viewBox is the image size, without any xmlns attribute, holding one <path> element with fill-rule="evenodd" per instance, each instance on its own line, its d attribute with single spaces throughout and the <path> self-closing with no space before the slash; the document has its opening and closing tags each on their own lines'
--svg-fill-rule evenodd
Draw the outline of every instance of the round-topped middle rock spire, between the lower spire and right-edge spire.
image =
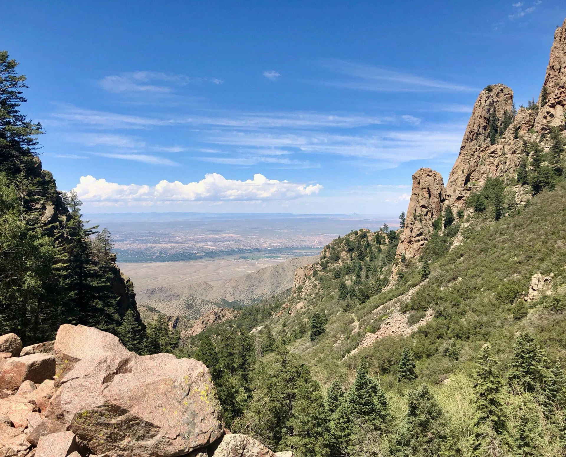
<svg viewBox="0 0 566 457">
<path fill-rule="evenodd" d="M 491 144 L 492 131 L 503 131 L 504 118 L 511 119 L 512 112 L 513 91 L 509 87 L 494 84 L 479 93 L 460 146 L 460 155 L 446 186 L 447 200 L 452 206 L 463 208 L 465 199 L 475 190 L 474 183 L 483 184 L 493 174 L 488 165 L 494 165 L 494 160 L 484 160 L 488 156 L 499 156 L 498 146 Z"/>
</svg>

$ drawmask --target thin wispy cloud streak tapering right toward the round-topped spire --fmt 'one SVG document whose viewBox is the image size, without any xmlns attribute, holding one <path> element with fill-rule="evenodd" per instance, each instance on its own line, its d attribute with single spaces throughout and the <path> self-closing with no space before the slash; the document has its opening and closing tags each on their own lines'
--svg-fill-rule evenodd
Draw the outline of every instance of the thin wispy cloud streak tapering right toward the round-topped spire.
<svg viewBox="0 0 566 457">
<path fill-rule="evenodd" d="M 425 78 L 406 72 L 340 59 L 324 59 L 320 64 L 341 75 L 341 79 L 321 80 L 320 84 L 379 92 L 475 92 L 477 88 L 440 79 Z"/>
</svg>

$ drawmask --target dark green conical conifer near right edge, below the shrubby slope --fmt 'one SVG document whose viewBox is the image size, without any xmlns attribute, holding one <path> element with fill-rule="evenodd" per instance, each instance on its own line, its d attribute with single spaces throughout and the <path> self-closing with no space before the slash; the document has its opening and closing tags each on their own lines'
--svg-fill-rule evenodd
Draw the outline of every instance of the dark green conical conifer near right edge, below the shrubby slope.
<svg viewBox="0 0 566 457">
<path fill-rule="evenodd" d="M 535 392 L 545 381 L 544 357 L 530 332 L 523 332 L 513 345 L 508 379 L 512 387 L 522 392 Z"/>
</svg>

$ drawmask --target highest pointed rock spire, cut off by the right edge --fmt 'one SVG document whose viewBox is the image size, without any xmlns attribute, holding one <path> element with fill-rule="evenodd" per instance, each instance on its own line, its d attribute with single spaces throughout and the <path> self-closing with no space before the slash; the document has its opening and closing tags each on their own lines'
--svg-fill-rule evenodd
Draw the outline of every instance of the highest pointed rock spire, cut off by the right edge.
<svg viewBox="0 0 566 457">
<path fill-rule="evenodd" d="M 554 43 L 546 68 L 546 78 L 538 99 L 539 112 L 535 121 L 538 133 L 548 126 L 563 126 L 566 106 L 566 20 L 554 33 Z"/>
</svg>

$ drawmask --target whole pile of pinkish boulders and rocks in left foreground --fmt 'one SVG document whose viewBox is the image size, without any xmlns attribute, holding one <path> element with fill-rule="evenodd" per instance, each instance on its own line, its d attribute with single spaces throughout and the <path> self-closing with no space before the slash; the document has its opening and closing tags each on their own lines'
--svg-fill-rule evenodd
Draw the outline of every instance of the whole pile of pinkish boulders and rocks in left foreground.
<svg viewBox="0 0 566 457">
<path fill-rule="evenodd" d="M 14 334 L 0 336 L 0 457 L 187 455 L 276 454 L 225 429 L 198 360 L 139 356 L 82 325 L 25 348 Z"/>
</svg>

